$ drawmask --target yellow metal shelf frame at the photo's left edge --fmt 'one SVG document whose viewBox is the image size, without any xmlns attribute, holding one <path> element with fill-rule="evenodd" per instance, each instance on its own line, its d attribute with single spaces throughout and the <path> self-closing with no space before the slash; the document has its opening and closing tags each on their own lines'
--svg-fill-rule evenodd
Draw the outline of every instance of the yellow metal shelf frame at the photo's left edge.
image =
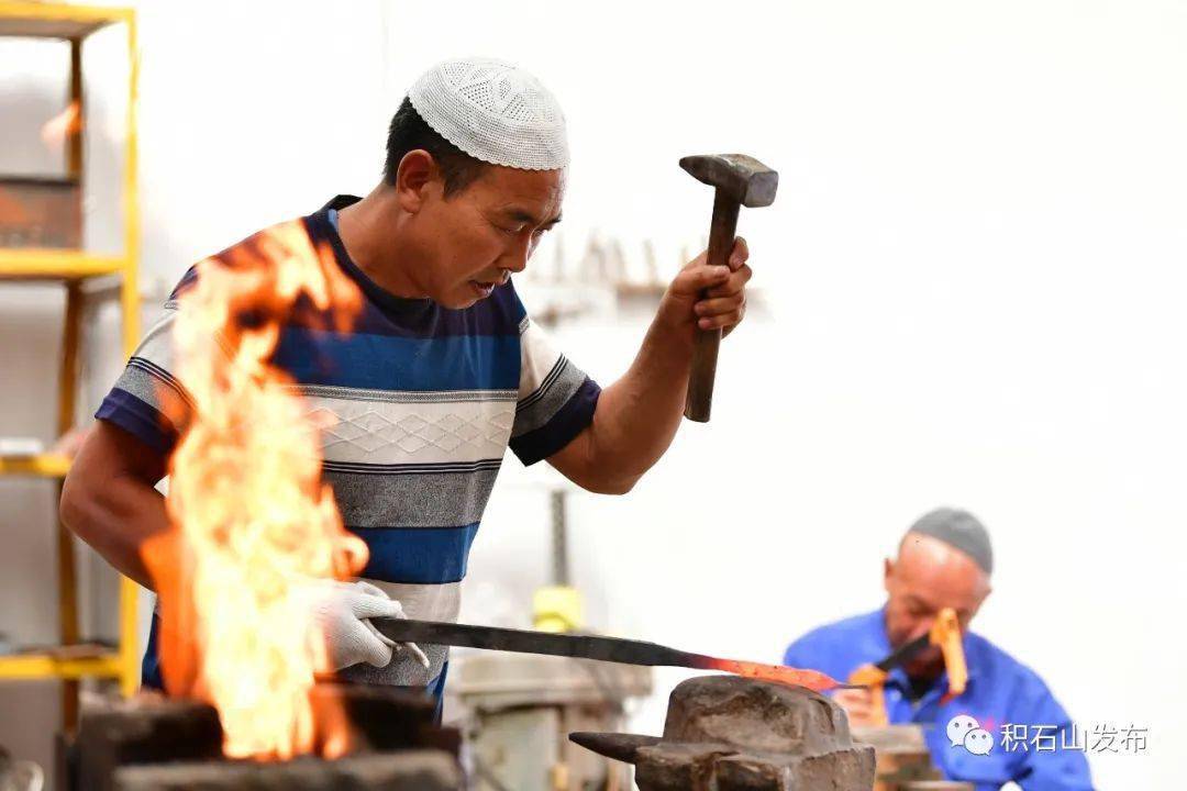
<svg viewBox="0 0 1187 791">
<path fill-rule="evenodd" d="M 63 350 L 63 381 L 71 384 L 71 393 L 63 387 L 61 395 L 59 428 L 64 432 L 74 419 L 74 393 L 77 372 L 77 331 L 82 293 L 78 283 L 84 278 L 120 276 L 120 313 L 122 346 L 131 356 L 140 339 L 140 296 L 138 292 L 140 259 L 140 215 L 137 181 L 137 102 L 139 98 L 140 59 L 138 55 L 137 17 L 132 8 L 76 6 L 57 2 L 12 2 L 0 0 L 0 36 L 32 36 L 63 39 L 70 43 L 71 98 L 82 110 L 82 42 L 90 33 L 112 24 L 122 24 L 128 45 L 128 95 L 123 157 L 123 253 L 122 255 L 93 255 L 82 250 L 0 250 L 0 281 L 57 280 L 66 287 L 66 343 Z M 82 142 L 77 135 L 68 140 L 71 174 L 81 176 Z M 0 458 L 0 474 L 40 476 L 61 479 L 69 471 L 68 459 L 52 454 L 37 457 Z M 72 538 L 59 525 L 61 579 L 68 579 L 70 589 L 61 586 L 63 639 L 77 639 L 77 615 L 74 591 Z M 62 555 L 65 555 L 63 560 Z M 61 659 L 50 655 L 17 655 L 0 657 L 0 680 L 107 677 L 120 682 L 125 695 L 135 693 L 140 681 L 140 656 L 137 623 L 139 586 L 128 578 L 120 578 L 120 644 L 109 655 L 88 659 Z M 74 627 L 71 630 L 71 619 Z M 68 685 L 68 693 L 72 687 Z M 68 696 L 69 697 L 69 694 Z M 77 700 L 63 701 L 68 727 L 77 716 Z"/>
</svg>

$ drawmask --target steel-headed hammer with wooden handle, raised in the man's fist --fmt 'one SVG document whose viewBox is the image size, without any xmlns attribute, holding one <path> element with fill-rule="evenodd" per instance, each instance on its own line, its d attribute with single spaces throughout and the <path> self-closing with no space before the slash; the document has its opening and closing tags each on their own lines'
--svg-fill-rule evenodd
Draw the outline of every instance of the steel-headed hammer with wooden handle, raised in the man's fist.
<svg viewBox="0 0 1187 791">
<path fill-rule="evenodd" d="M 726 266 L 734 249 L 741 206 L 769 206 L 775 202 L 779 173 L 745 154 L 700 154 L 685 157 L 680 167 L 694 179 L 715 187 L 713 219 L 709 227 L 709 266 Z M 702 293 L 705 299 L 706 293 Z M 692 372 L 684 401 L 684 416 L 698 423 L 709 422 L 713 403 L 713 378 L 717 375 L 717 349 L 721 328 L 700 330 L 692 352 Z"/>
</svg>

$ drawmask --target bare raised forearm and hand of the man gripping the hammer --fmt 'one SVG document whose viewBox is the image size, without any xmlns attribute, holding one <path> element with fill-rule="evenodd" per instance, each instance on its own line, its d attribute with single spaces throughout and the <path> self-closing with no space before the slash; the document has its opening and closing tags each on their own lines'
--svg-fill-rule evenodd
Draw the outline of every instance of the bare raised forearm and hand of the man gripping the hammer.
<svg viewBox="0 0 1187 791">
<path fill-rule="evenodd" d="M 749 255 L 740 237 L 728 267 L 709 266 L 703 253 L 680 270 L 630 368 L 602 390 L 592 422 L 548 464 L 589 491 L 630 491 L 680 427 L 696 333 L 719 327 L 728 334 L 745 314 Z"/>
</svg>

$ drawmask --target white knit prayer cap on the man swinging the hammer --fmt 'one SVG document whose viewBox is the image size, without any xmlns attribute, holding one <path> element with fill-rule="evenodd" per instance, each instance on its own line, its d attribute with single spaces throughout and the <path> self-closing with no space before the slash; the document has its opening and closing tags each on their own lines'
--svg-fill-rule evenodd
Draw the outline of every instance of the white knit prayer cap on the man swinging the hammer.
<svg viewBox="0 0 1187 791">
<path fill-rule="evenodd" d="M 527 171 L 569 165 L 565 116 L 528 72 L 494 58 L 438 63 L 408 89 L 433 130 L 475 159 Z"/>
</svg>

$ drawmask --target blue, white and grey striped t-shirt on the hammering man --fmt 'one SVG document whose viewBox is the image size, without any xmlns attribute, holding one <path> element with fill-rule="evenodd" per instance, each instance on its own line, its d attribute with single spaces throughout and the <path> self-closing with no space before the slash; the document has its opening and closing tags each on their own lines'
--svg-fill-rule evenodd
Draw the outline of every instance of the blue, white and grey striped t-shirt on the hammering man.
<svg viewBox="0 0 1187 791">
<path fill-rule="evenodd" d="M 362 291 L 354 328 L 341 334 L 311 328 L 331 321 L 293 320 L 273 363 L 293 377 L 311 416 L 332 419 L 322 470 L 347 529 L 370 549 L 363 578 L 410 618 L 456 620 L 470 546 L 507 446 L 525 465 L 560 451 L 592 421 L 601 389 L 528 320 L 510 282 L 464 310 L 380 288 L 337 232 L 337 211 L 356 200 L 338 196 L 303 218 L 313 243 L 328 243 Z M 215 257 L 230 260 L 252 243 Z M 188 400 L 173 375 L 171 327 L 177 295 L 195 276 L 191 268 L 182 279 L 95 415 L 163 457 L 182 429 L 166 402 Z M 157 627 L 154 618 L 142 675 L 159 687 Z M 421 648 L 427 674 L 398 653 L 387 668 L 360 664 L 343 675 L 439 689 L 447 650 Z"/>
</svg>

